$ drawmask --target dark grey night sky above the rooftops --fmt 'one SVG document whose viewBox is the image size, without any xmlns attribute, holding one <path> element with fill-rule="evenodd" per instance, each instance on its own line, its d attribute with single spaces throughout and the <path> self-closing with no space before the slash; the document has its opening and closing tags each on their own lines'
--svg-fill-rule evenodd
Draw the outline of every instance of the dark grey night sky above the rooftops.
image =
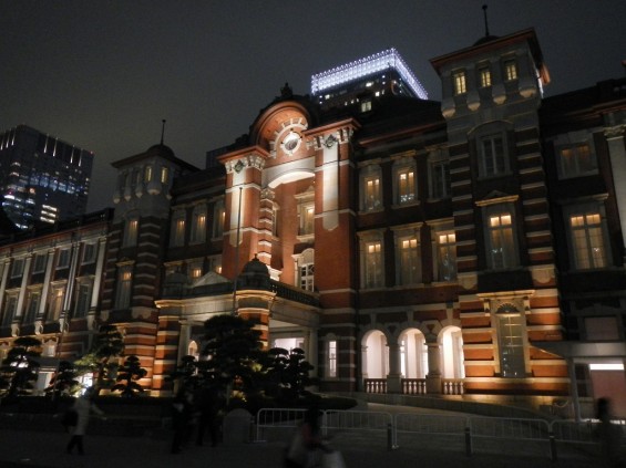
<svg viewBox="0 0 626 468">
<path fill-rule="evenodd" d="M 485 0 L 0 0 L 0 131 L 30 125 L 95 153 L 89 210 L 113 206 L 111 162 L 161 138 L 204 167 L 288 82 L 396 48 L 440 100 L 429 60 L 484 35 Z M 545 95 L 622 77 L 626 0 L 497 0 L 493 35 L 534 28 Z"/>
</svg>

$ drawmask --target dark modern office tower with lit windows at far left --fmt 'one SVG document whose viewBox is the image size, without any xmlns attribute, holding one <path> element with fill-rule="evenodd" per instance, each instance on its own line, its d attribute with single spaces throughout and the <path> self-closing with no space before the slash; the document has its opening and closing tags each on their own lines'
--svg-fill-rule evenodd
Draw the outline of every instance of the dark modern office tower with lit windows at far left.
<svg viewBox="0 0 626 468">
<path fill-rule="evenodd" d="M 2 209 L 20 229 L 83 215 L 93 153 L 19 125 L 0 134 Z"/>
</svg>

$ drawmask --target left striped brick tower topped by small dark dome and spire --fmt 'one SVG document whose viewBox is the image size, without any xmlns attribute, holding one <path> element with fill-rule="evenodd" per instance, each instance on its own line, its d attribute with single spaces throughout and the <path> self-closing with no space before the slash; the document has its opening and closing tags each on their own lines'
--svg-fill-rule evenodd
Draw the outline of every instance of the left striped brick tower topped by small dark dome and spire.
<svg viewBox="0 0 626 468">
<path fill-rule="evenodd" d="M 145 384 L 153 389 L 153 371 L 163 366 L 157 333 L 177 322 L 160 318 L 154 301 L 161 288 L 160 268 L 168 238 L 171 188 L 176 177 L 198 170 L 178 159 L 163 143 L 112 164 L 117 170 L 115 215 L 111 228 L 102 297 L 103 322 L 125 335 L 125 353 L 135 354 L 148 371 Z M 174 362 L 175 362 L 174 357 Z M 175 365 L 175 364 L 174 364 Z M 154 372 L 154 374 L 162 374 Z"/>
</svg>

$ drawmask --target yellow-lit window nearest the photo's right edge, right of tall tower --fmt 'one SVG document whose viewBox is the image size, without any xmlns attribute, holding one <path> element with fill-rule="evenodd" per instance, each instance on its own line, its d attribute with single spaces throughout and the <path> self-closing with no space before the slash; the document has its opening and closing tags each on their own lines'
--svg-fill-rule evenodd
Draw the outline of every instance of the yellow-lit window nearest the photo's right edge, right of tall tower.
<svg viewBox="0 0 626 468">
<path fill-rule="evenodd" d="M 586 270 L 606 267 L 607 254 L 599 212 L 569 216 L 569 228 L 575 268 Z"/>
</svg>

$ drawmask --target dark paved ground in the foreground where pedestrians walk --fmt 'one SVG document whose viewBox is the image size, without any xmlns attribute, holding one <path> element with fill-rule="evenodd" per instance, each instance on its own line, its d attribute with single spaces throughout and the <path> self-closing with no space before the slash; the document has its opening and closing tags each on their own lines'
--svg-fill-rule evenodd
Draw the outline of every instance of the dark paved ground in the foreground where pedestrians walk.
<svg viewBox="0 0 626 468">
<path fill-rule="evenodd" d="M 380 410 L 379 406 L 372 407 Z M 403 410 L 403 408 L 392 408 Z M 422 410 L 432 413 L 433 410 Z M 226 468 L 226 467 L 280 467 L 284 441 L 269 440 L 234 446 L 189 446 L 181 454 L 170 453 L 170 434 L 151 437 L 122 437 L 88 435 L 86 455 L 64 453 L 69 436 L 60 431 L 32 431 L 0 429 L 0 467 L 2 468 Z M 388 450 L 387 436 L 372 433 L 336 434 L 331 440 L 346 459 L 347 468 L 419 467 L 419 468 L 589 468 L 602 462 L 579 447 L 561 449 L 558 460 L 548 458 L 545 446 L 541 448 L 517 446 L 509 448 L 502 443 L 475 447 L 466 456 L 462 441 L 445 438 L 420 437 Z M 511 443 L 515 444 L 515 441 Z"/>
</svg>

